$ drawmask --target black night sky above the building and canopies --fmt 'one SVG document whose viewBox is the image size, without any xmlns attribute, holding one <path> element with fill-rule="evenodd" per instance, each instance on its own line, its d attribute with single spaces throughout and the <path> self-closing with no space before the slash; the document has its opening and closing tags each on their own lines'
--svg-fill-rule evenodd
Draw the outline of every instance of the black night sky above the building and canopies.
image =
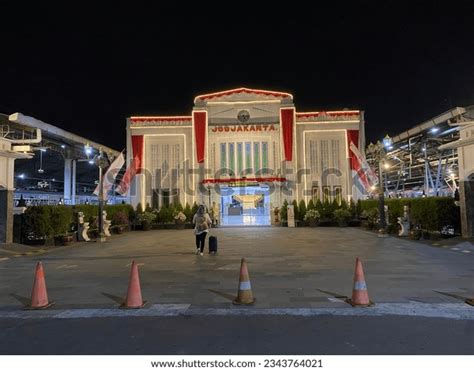
<svg viewBox="0 0 474 371">
<path fill-rule="evenodd" d="M 95 3 L 0 1 L 0 112 L 120 150 L 127 116 L 241 86 L 363 109 L 369 140 L 474 104 L 472 1 Z"/>
</svg>

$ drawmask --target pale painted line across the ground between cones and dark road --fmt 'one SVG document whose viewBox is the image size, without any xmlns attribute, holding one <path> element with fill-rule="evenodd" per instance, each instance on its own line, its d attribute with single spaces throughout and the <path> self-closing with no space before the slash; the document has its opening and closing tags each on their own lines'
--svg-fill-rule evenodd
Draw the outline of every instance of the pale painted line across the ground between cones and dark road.
<svg viewBox="0 0 474 371">
<path fill-rule="evenodd" d="M 370 308 L 194 308 L 190 304 L 155 304 L 137 310 L 123 309 L 70 309 L 43 311 L 0 310 L 0 318 L 42 319 L 42 318 L 104 318 L 104 317 L 176 317 L 189 316 L 365 316 L 387 315 L 408 317 L 446 318 L 453 320 L 474 320 L 472 307 L 464 303 L 377 303 Z"/>
</svg>

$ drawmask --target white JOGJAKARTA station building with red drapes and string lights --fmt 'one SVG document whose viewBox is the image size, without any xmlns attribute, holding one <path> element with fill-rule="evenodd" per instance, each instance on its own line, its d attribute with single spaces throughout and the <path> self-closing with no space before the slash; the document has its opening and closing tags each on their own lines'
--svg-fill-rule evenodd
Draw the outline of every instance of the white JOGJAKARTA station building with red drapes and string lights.
<svg viewBox="0 0 474 371">
<path fill-rule="evenodd" d="M 200 95 L 190 116 L 127 118 L 129 200 L 214 205 L 223 224 L 270 224 L 285 199 L 361 196 L 351 142 L 365 146 L 362 111 L 298 112 L 289 93 L 247 88 Z"/>
</svg>

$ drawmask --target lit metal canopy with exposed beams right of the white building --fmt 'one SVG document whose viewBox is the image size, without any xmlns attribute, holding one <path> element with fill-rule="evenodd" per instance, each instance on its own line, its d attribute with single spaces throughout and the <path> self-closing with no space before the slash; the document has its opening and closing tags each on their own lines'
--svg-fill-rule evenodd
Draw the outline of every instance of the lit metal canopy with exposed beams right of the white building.
<svg viewBox="0 0 474 371">
<path fill-rule="evenodd" d="M 474 106 L 455 107 L 383 141 L 386 197 L 453 196 L 458 188 L 459 125 L 472 118 Z M 367 153 L 367 161 L 378 168 Z"/>
</svg>

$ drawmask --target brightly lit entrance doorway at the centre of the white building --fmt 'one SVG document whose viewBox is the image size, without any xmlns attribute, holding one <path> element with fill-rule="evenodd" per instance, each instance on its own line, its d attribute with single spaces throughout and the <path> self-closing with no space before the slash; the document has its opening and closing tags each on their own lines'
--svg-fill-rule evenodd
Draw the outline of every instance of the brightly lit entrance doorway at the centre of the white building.
<svg viewBox="0 0 474 371">
<path fill-rule="evenodd" d="M 268 186 L 221 187 L 221 224 L 270 225 Z"/>
</svg>

